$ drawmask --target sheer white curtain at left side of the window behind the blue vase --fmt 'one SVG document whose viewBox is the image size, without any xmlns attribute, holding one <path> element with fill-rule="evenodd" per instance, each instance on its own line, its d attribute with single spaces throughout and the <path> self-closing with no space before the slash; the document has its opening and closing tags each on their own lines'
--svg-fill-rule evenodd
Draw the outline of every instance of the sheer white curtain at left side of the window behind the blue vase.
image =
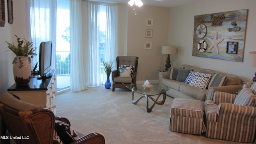
<svg viewBox="0 0 256 144">
<path fill-rule="evenodd" d="M 87 4 L 87 85 L 100 86 L 100 29 L 98 2 Z"/>
</svg>

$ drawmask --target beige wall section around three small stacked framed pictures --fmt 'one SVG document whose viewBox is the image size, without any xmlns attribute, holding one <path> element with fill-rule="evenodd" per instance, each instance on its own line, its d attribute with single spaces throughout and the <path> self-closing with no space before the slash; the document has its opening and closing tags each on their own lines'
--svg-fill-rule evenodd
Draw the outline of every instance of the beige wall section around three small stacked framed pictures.
<svg viewBox="0 0 256 144">
<path fill-rule="evenodd" d="M 153 19 L 153 27 L 145 26 L 146 18 Z M 138 56 L 136 81 L 158 80 L 158 70 L 165 68 L 167 54 L 161 54 L 168 44 L 169 8 L 147 6 L 137 8 L 137 15 L 128 5 L 127 55 Z M 145 30 L 152 29 L 152 38 L 145 38 Z M 152 50 L 144 50 L 144 43 L 152 42 Z"/>
</svg>

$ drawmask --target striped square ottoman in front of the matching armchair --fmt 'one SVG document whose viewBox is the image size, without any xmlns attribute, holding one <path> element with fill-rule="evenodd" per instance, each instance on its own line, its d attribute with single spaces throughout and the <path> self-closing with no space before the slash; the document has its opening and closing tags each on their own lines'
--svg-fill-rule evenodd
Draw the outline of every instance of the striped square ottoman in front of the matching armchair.
<svg viewBox="0 0 256 144">
<path fill-rule="evenodd" d="M 170 130 L 200 135 L 206 132 L 200 100 L 174 98 L 171 106 Z"/>
</svg>

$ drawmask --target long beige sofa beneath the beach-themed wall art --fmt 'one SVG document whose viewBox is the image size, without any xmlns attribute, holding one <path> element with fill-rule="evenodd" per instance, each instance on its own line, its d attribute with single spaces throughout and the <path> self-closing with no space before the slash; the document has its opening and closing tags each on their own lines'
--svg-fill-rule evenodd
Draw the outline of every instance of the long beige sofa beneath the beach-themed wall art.
<svg viewBox="0 0 256 144">
<path fill-rule="evenodd" d="M 204 72 L 212 75 L 214 73 L 218 73 L 220 75 L 226 76 L 226 78 L 222 86 L 214 86 L 207 89 L 202 89 L 190 86 L 185 82 L 168 79 L 168 72 L 159 72 L 159 84 L 170 87 L 170 90 L 168 90 L 166 94 L 172 98 L 189 98 L 201 100 L 202 103 L 204 103 L 205 100 L 213 100 L 215 91 L 234 93 L 242 88 L 240 78 L 233 74 L 224 74 L 215 70 L 198 68 L 196 66 L 190 66 L 186 64 L 183 64 L 180 69 L 193 70 L 194 72 Z"/>
</svg>

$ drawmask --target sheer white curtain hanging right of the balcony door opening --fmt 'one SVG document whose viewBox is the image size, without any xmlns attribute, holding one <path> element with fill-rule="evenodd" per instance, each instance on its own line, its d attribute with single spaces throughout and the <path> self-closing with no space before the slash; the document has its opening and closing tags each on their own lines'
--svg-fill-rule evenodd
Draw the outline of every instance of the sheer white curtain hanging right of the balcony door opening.
<svg viewBox="0 0 256 144">
<path fill-rule="evenodd" d="M 82 49 L 81 0 L 70 0 L 70 88 L 86 90 L 84 54 Z"/>
</svg>

